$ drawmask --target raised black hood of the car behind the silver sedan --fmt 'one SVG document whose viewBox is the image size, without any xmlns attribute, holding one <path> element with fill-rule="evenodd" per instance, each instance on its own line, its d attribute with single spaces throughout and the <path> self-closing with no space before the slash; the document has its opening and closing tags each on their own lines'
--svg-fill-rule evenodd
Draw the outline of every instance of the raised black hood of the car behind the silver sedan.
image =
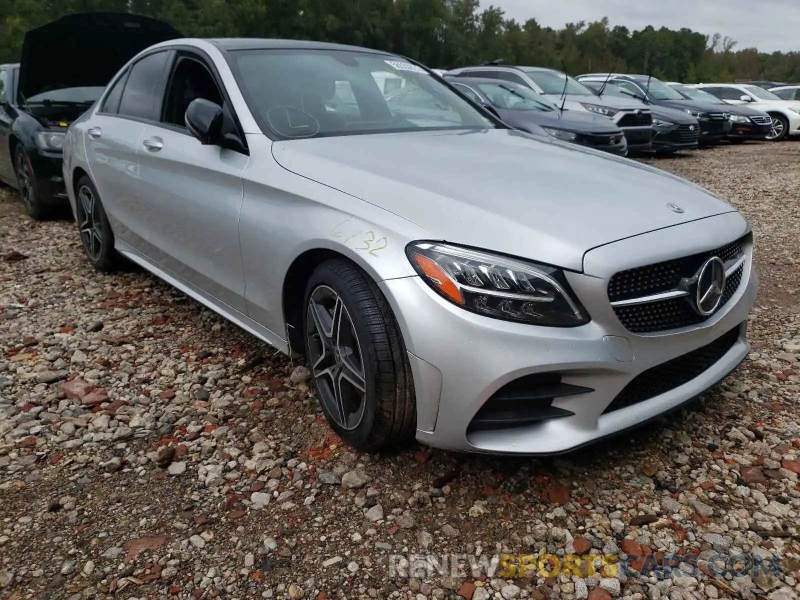
<svg viewBox="0 0 800 600">
<path fill-rule="evenodd" d="M 25 34 L 18 94 L 30 98 L 50 86 L 105 87 L 141 50 L 182 37 L 172 26 L 138 14 L 67 15 Z"/>
</svg>

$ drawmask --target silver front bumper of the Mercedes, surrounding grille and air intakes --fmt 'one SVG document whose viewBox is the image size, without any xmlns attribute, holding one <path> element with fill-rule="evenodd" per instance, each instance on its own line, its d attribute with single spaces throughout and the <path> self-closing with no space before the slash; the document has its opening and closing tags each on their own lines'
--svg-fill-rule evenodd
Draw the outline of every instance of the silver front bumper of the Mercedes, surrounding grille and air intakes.
<svg viewBox="0 0 800 600">
<path fill-rule="evenodd" d="M 381 282 L 409 352 L 417 394 L 417 439 L 446 450 L 559 454 L 639 426 L 702 394 L 734 370 L 749 349 L 745 322 L 758 287 L 750 247 L 737 291 L 698 326 L 632 334 L 616 318 L 606 286 L 618 270 L 709 250 L 745 231 L 744 219 L 729 213 L 590 251 L 586 273 L 568 274 L 592 317 L 575 328 L 528 326 L 471 314 L 440 298 L 418 277 Z M 687 247 L 686 240 L 694 246 Z M 674 251 L 676 242 L 683 248 L 679 254 Z M 663 250 L 654 254 L 654 248 Z M 730 348 L 696 377 L 604 414 L 639 374 L 733 330 Z M 553 406 L 570 411 L 570 416 L 502 430 L 470 430 L 474 415 L 502 386 L 526 375 L 554 372 L 568 385 L 590 388 L 555 398 Z"/>
</svg>

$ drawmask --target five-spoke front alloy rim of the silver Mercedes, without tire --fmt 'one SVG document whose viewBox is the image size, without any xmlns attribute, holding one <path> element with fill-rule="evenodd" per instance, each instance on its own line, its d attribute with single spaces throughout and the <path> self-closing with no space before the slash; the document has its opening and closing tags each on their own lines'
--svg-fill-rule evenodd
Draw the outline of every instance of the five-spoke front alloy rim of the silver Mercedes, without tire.
<svg viewBox="0 0 800 600">
<path fill-rule="evenodd" d="M 311 292 L 306 332 L 311 372 L 326 414 L 343 430 L 356 429 L 366 409 L 361 344 L 342 298 L 330 287 Z"/>
</svg>

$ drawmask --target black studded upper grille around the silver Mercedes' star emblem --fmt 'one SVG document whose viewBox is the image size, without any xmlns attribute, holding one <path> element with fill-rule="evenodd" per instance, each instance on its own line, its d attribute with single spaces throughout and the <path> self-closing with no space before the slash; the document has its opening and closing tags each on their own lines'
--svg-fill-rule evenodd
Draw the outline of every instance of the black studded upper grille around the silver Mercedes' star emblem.
<svg viewBox="0 0 800 600">
<path fill-rule="evenodd" d="M 722 262 L 727 262 L 741 256 L 742 248 L 749 236 L 750 234 L 747 234 L 735 242 L 707 252 L 620 271 L 614 274 L 608 284 L 608 298 L 610 302 L 619 302 L 674 290 L 682 278 L 693 277 L 708 258 L 717 256 Z M 719 302 L 720 307 L 724 306 L 738 290 L 742 283 L 743 270 L 744 265 L 730 274 Z M 686 296 L 646 304 L 614 306 L 614 314 L 622 326 L 634 334 L 679 329 L 698 325 L 708 318 L 694 310 L 690 304 L 691 298 Z"/>
</svg>

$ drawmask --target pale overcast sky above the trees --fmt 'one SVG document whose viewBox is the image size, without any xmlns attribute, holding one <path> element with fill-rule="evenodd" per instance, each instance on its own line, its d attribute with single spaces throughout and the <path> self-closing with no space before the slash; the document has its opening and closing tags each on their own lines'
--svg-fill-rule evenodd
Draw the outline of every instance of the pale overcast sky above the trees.
<svg viewBox="0 0 800 600">
<path fill-rule="evenodd" d="M 609 18 L 630 30 L 652 25 L 719 32 L 736 40 L 737 50 L 800 50 L 800 0 L 482 0 L 499 6 L 507 18 L 560 29 L 567 22 Z"/>
</svg>

